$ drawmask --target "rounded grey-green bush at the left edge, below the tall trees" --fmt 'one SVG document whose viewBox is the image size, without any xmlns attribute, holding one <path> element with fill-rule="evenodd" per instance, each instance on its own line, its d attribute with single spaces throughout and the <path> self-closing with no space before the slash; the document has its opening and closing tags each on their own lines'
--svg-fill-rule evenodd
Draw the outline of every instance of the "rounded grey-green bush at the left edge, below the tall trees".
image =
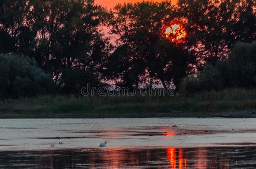
<svg viewBox="0 0 256 169">
<path fill-rule="evenodd" d="M 28 57 L 0 54 L 0 72 L 0 98 L 37 96 L 54 87 L 51 75 Z"/>
</svg>

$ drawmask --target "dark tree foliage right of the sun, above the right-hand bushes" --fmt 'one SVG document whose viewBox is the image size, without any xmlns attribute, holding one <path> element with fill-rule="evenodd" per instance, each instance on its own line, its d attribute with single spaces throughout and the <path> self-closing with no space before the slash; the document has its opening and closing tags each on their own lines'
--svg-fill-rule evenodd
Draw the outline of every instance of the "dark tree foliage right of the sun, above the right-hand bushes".
<svg viewBox="0 0 256 169">
<path fill-rule="evenodd" d="M 227 58 L 239 40 L 256 38 L 253 0 L 179 0 L 176 15 L 186 20 L 188 43 L 196 50 L 198 66 Z"/>
</svg>

